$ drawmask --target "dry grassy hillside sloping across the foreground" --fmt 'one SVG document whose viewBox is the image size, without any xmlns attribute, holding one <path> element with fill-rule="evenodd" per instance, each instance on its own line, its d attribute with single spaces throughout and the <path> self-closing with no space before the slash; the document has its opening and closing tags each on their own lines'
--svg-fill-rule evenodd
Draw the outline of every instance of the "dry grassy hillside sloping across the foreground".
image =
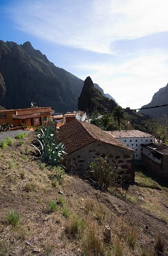
<svg viewBox="0 0 168 256">
<path fill-rule="evenodd" d="M 70 174 L 57 184 L 29 145 L 34 136 L 30 132 L 21 143 L 14 139 L 0 148 L 1 256 L 151 256 L 158 234 L 168 255 L 165 186 L 141 170 L 127 194 L 121 188 L 96 190 Z M 16 226 L 10 224 L 11 209 L 19 214 Z M 111 228 L 108 243 L 105 225 Z"/>
</svg>

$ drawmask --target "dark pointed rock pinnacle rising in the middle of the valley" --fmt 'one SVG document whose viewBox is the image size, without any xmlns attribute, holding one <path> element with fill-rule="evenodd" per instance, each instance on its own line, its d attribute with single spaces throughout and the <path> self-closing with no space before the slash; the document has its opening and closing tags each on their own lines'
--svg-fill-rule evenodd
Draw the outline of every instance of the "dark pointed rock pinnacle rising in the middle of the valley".
<svg viewBox="0 0 168 256">
<path fill-rule="evenodd" d="M 84 86 L 80 97 L 78 98 L 78 110 L 93 112 L 98 111 L 111 111 L 116 106 L 113 100 L 109 100 L 102 95 L 102 93 L 94 87 L 92 79 L 88 76 L 84 80 Z"/>
</svg>

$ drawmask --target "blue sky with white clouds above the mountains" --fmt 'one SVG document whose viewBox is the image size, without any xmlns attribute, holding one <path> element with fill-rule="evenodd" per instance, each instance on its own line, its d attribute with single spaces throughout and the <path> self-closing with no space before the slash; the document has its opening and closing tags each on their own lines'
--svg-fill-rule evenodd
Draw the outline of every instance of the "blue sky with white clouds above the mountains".
<svg viewBox="0 0 168 256">
<path fill-rule="evenodd" d="M 0 39 L 31 42 L 124 108 L 168 83 L 168 0 L 0 0 Z"/>
</svg>

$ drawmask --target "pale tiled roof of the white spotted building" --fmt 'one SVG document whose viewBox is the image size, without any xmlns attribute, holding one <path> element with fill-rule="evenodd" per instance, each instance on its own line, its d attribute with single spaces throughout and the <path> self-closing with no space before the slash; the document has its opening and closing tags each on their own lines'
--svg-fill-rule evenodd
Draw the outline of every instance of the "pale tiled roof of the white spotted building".
<svg viewBox="0 0 168 256">
<path fill-rule="evenodd" d="M 151 134 L 139 130 L 108 131 L 113 138 L 146 138 L 153 137 Z"/>
</svg>

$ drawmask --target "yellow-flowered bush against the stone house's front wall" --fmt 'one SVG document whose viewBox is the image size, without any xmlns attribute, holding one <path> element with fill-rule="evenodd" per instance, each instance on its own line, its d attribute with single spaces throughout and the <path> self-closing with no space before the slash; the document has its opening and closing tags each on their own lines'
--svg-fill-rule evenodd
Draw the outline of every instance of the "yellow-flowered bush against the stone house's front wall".
<svg viewBox="0 0 168 256">
<path fill-rule="evenodd" d="M 116 168 L 107 157 L 96 158 L 90 163 L 90 175 L 106 191 L 110 186 L 117 184 L 119 168 Z"/>
</svg>

